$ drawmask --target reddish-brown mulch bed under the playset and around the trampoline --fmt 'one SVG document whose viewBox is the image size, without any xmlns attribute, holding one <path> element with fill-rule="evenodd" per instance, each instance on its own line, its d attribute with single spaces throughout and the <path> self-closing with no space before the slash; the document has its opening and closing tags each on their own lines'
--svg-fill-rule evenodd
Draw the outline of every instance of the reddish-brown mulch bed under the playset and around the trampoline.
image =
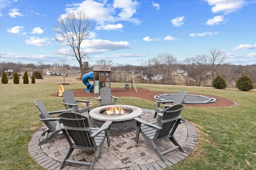
<svg viewBox="0 0 256 170">
<path fill-rule="evenodd" d="M 75 97 L 95 97 L 98 98 L 99 95 L 94 95 L 94 92 L 86 93 L 86 89 L 78 89 L 78 90 L 72 90 Z M 158 94 L 167 94 L 172 92 L 154 92 L 152 90 L 147 90 L 144 88 L 137 88 L 137 92 L 135 88 L 130 88 L 130 90 L 125 90 L 125 88 L 111 88 L 111 94 L 116 97 L 137 97 L 137 98 L 143 98 L 146 100 L 150 100 L 155 102 L 156 99 L 154 99 L 154 96 Z M 176 92 L 173 92 L 176 93 Z M 204 95 L 204 94 L 198 94 L 198 95 Z M 58 96 L 58 94 L 55 94 L 54 96 Z M 234 106 L 236 103 L 230 99 L 222 98 L 218 96 L 211 96 L 211 95 L 204 95 L 209 96 L 212 98 L 215 98 L 217 101 L 214 103 L 209 104 L 186 104 L 185 106 L 188 107 L 228 107 L 228 106 Z M 59 96 L 58 96 L 59 97 Z"/>
</svg>

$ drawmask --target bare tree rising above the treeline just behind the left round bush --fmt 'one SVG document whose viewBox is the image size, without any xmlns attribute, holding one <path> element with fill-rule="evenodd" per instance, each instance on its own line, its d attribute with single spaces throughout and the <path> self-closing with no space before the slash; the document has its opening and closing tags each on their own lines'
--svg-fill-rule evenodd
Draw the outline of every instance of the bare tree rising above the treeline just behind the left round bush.
<svg viewBox="0 0 256 170">
<path fill-rule="evenodd" d="M 218 69 L 218 67 L 224 63 L 226 59 L 226 54 L 222 54 L 222 50 L 221 49 L 210 49 L 210 54 L 208 55 L 208 60 L 209 63 L 212 66 L 212 81 L 214 79 L 214 74 L 216 72 L 216 70 Z"/>
</svg>

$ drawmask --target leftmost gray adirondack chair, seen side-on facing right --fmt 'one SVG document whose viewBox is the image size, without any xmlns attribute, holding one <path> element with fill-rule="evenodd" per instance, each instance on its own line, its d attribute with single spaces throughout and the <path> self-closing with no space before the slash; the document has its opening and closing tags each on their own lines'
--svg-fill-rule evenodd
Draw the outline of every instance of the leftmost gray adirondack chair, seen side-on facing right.
<svg viewBox="0 0 256 170">
<path fill-rule="evenodd" d="M 40 121 L 43 121 L 44 124 L 47 126 L 47 129 L 42 133 L 42 136 L 44 136 L 44 139 L 38 143 L 38 145 L 42 145 L 44 143 L 47 143 L 48 141 L 51 141 L 52 139 L 55 139 L 58 137 L 58 135 L 62 134 L 62 131 L 60 127 L 62 126 L 61 123 L 56 123 L 60 121 L 60 119 L 52 118 L 51 114 L 60 114 L 65 111 L 72 111 L 73 109 L 67 109 L 67 110 L 59 110 L 59 111 L 46 111 L 45 107 L 43 106 L 42 102 L 40 100 L 35 99 L 34 100 L 36 107 L 38 107 L 40 113 L 39 119 Z"/>
</svg>

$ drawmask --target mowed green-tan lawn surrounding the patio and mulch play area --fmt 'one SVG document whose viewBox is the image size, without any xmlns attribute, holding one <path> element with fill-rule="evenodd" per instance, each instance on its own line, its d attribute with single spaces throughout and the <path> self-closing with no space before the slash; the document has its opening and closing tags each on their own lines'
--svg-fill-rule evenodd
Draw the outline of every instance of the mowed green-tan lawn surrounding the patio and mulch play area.
<svg viewBox="0 0 256 170">
<path fill-rule="evenodd" d="M 31 80 L 30 80 L 31 82 Z M 45 76 L 36 84 L 0 84 L 0 169 L 42 170 L 28 154 L 32 135 L 43 125 L 38 116 L 34 99 L 39 99 L 48 111 L 65 109 L 62 98 L 52 97 L 58 93 L 60 76 Z M 66 78 L 65 90 L 85 89 L 75 77 Z M 122 86 L 123 84 L 120 84 Z M 112 87 L 119 84 L 112 83 Z M 234 107 L 202 108 L 184 107 L 181 116 L 197 129 L 199 139 L 193 153 L 185 160 L 171 166 L 172 170 L 254 170 L 256 169 L 256 90 L 243 92 L 237 89 L 217 90 L 205 87 L 136 84 L 158 92 L 214 95 L 232 99 Z M 131 88 L 130 88 L 131 90 Z M 153 98 L 154 96 L 152 96 Z M 91 108 L 98 107 L 97 98 Z M 117 104 L 127 104 L 154 109 L 155 102 L 139 98 L 118 98 Z"/>
</svg>

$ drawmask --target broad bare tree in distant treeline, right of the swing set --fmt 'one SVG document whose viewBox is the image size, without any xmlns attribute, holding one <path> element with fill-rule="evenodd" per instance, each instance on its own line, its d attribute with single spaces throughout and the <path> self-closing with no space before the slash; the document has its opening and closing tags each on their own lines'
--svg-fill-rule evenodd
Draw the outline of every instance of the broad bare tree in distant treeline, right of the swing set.
<svg viewBox="0 0 256 170">
<path fill-rule="evenodd" d="M 173 70 L 172 65 L 176 63 L 176 57 L 170 53 L 159 53 L 156 57 L 153 57 L 152 61 L 158 73 L 162 76 L 162 84 L 165 84 L 166 80 L 170 78 Z"/>
</svg>

